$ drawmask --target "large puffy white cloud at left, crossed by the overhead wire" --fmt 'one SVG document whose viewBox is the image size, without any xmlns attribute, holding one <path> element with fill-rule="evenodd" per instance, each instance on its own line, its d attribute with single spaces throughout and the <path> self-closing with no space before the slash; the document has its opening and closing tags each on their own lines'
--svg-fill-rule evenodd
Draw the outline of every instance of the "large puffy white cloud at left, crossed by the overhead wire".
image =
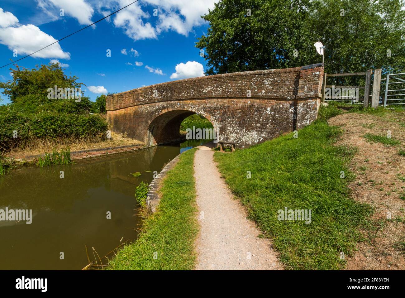
<svg viewBox="0 0 405 298">
<path fill-rule="evenodd" d="M 46 34 L 32 24 L 0 28 L 0 43 L 6 45 L 12 51 L 17 49 L 18 55 L 31 54 L 55 41 L 56 39 L 51 35 Z M 55 43 L 33 54 L 32 57 L 70 59 L 70 54 L 64 52 L 59 43 Z"/>
</svg>

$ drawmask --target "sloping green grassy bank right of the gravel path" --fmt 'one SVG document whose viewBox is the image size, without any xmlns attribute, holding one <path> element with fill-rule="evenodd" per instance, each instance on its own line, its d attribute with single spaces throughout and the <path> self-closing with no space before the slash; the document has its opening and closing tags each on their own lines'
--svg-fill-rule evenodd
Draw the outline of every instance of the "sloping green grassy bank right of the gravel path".
<svg viewBox="0 0 405 298">
<path fill-rule="evenodd" d="M 324 119 L 338 113 L 328 109 L 320 111 Z M 298 138 L 290 133 L 232 154 L 215 152 L 230 189 L 289 269 L 342 268 L 341 252 L 353 251 L 361 239 L 358 228 L 368 224 L 370 206 L 348 197 L 347 182 L 353 176 L 347 163 L 353 150 L 333 146 L 340 133 L 318 120 L 298 131 Z M 285 207 L 311 209 L 311 223 L 279 221 L 277 211 Z"/>
</svg>

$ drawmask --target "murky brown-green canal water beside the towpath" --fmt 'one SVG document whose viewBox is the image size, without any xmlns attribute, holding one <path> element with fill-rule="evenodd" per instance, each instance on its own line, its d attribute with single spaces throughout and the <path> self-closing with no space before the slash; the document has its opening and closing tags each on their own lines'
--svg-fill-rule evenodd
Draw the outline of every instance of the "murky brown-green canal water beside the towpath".
<svg viewBox="0 0 405 298">
<path fill-rule="evenodd" d="M 0 176 L 0 209 L 32 209 L 31 224 L 0 221 L 0 270 L 80 270 L 88 259 L 100 264 L 99 257 L 136 240 L 141 218 L 135 187 L 149 184 L 153 172 L 180 152 L 206 142 L 189 140 L 72 165 L 22 167 Z M 141 176 L 132 176 L 136 172 Z"/>
</svg>

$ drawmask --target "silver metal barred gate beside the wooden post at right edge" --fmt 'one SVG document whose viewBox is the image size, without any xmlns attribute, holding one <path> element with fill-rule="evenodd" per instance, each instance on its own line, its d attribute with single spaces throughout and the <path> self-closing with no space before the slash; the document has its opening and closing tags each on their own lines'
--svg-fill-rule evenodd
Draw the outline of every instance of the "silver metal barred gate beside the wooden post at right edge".
<svg viewBox="0 0 405 298">
<path fill-rule="evenodd" d="M 388 107 L 388 109 L 394 107 L 405 109 L 405 73 L 387 74 L 384 107 L 387 105 L 392 106 Z"/>
</svg>

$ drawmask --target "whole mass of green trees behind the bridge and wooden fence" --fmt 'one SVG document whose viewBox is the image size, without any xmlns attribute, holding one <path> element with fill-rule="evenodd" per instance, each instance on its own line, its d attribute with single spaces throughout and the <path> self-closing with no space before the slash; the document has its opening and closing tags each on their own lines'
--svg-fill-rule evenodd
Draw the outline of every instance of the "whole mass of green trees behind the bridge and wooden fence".
<svg viewBox="0 0 405 298">
<path fill-rule="evenodd" d="M 208 75 L 322 62 L 316 41 L 326 46 L 328 73 L 399 70 L 402 6 L 404 0 L 221 0 L 203 16 L 209 28 L 196 47 L 205 51 Z"/>
</svg>

